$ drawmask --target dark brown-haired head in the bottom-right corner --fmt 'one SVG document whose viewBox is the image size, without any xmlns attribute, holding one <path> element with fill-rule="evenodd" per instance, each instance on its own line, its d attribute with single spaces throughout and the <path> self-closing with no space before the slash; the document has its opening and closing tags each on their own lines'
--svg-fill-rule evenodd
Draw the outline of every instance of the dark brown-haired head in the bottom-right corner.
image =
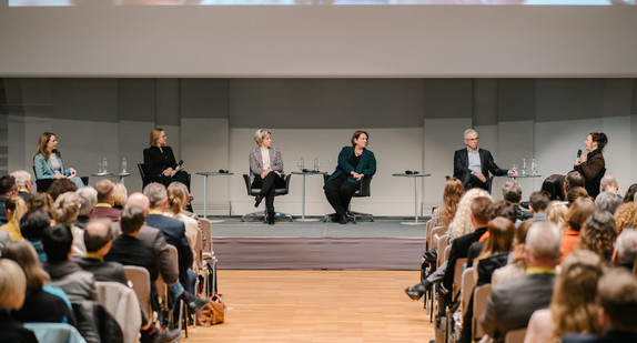
<svg viewBox="0 0 637 343">
<path fill-rule="evenodd" d="M 610 270 L 597 284 L 604 330 L 637 331 L 637 279 L 624 269 Z"/>
</svg>

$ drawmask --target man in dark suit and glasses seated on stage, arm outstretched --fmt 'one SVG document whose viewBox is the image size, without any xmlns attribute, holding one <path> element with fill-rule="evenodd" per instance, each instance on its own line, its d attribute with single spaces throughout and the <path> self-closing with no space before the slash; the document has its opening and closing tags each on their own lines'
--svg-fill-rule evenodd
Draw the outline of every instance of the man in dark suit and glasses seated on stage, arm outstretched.
<svg viewBox="0 0 637 343">
<path fill-rule="evenodd" d="M 517 171 L 497 167 L 488 150 L 478 149 L 478 135 L 475 130 L 465 130 L 464 139 L 467 148 L 457 150 L 454 154 L 454 178 L 459 179 L 466 190 L 475 186 L 488 190 L 486 182 L 489 172 L 497 176 L 507 173 L 517 175 Z"/>
</svg>

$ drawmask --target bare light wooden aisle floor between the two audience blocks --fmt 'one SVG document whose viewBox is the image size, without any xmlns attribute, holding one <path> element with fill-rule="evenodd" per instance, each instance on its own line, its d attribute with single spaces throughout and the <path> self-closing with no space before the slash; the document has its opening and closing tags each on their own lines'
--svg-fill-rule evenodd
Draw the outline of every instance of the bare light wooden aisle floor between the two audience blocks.
<svg viewBox="0 0 637 343">
<path fill-rule="evenodd" d="M 429 342 L 434 326 L 405 286 L 417 271 L 219 271 L 225 323 L 188 343 Z"/>
</svg>

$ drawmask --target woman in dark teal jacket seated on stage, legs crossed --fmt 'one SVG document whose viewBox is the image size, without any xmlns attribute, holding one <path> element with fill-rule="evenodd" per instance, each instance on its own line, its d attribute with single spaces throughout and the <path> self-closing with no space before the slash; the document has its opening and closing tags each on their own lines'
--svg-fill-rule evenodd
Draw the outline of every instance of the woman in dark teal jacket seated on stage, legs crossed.
<svg viewBox="0 0 637 343">
<path fill-rule="evenodd" d="M 358 189 L 364 176 L 376 173 L 376 158 L 367 150 L 370 135 L 365 131 L 356 131 L 352 135 L 352 147 L 344 147 L 338 154 L 336 170 L 325 182 L 325 196 L 336 214 L 332 221 L 347 223 L 347 208 L 352 195 Z"/>
</svg>

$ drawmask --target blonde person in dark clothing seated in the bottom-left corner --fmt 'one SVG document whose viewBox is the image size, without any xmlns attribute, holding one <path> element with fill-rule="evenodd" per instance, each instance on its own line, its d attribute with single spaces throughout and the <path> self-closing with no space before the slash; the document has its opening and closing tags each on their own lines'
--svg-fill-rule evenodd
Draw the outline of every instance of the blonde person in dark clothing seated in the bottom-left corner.
<svg viewBox="0 0 637 343">
<path fill-rule="evenodd" d="M 20 310 L 24 302 L 27 279 L 16 262 L 0 260 L 0 342 L 38 343 L 36 334 L 9 314 Z"/>
</svg>

